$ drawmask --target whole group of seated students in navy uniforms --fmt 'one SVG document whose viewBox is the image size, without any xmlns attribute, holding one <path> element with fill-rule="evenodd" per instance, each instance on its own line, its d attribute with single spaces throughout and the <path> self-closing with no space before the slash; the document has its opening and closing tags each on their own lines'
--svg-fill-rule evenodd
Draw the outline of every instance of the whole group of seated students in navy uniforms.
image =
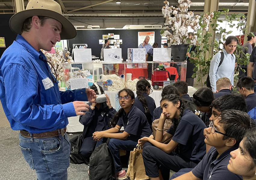
<svg viewBox="0 0 256 180">
<path fill-rule="evenodd" d="M 95 85 L 91 88 L 98 94 Z M 217 80 L 216 88 L 216 93 L 200 88 L 190 98 L 187 83 L 178 81 L 164 87 L 161 106 L 156 107 L 150 83 L 141 79 L 136 98 L 130 89 L 118 92 L 118 112 L 107 95 L 104 103 L 89 103 L 89 112 L 79 120 L 84 125 L 81 155 L 89 159 L 95 147 L 110 138 L 117 179 L 127 178 L 120 149 L 133 151 L 137 144 L 143 147 L 150 179 L 169 179 L 170 170 L 177 172 L 170 178 L 175 180 L 255 179 L 256 130 L 247 114 L 256 107 L 254 80 L 240 78 L 240 94 L 231 93 L 226 77 Z"/>
</svg>

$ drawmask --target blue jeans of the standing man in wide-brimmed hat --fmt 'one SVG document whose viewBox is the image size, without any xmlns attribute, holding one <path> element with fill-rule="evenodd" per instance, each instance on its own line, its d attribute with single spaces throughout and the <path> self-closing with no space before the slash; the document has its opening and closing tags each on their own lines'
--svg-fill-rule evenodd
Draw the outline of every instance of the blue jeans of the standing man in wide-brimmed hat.
<svg viewBox="0 0 256 180">
<path fill-rule="evenodd" d="M 30 168 L 36 170 L 38 180 L 67 180 L 70 141 L 66 133 L 48 138 L 27 138 L 20 134 L 19 139 L 21 152 Z"/>
</svg>

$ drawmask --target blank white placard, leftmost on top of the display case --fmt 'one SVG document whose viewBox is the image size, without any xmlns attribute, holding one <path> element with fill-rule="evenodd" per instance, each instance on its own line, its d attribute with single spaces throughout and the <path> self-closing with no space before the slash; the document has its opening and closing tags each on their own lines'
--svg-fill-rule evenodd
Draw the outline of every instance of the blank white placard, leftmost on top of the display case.
<svg viewBox="0 0 256 180">
<path fill-rule="evenodd" d="M 92 49 L 73 49 L 75 62 L 92 62 Z"/>
</svg>

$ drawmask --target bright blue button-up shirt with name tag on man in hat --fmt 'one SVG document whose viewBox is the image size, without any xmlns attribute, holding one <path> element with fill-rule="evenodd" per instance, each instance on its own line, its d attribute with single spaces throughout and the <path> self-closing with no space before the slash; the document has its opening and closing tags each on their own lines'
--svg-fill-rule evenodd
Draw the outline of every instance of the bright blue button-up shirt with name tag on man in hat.
<svg viewBox="0 0 256 180">
<path fill-rule="evenodd" d="M 44 59 L 21 35 L 0 59 L 0 100 L 13 130 L 41 133 L 65 128 L 67 117 L 76 116 L 72 101 L 87 101 L 85 89 L 60 92 Z"/>
</svg>

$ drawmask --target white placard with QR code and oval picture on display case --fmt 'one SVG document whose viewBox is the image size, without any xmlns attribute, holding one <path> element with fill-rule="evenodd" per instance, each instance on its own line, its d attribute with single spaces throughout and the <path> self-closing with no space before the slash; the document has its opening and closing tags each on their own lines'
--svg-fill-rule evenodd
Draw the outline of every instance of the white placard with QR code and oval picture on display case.
<svg viewBox="0 0 256 180">
<path fill-rule="evenodd" d="M 122 62 L 122 49 L 104 49 L 104 62 Z"/>
</svg>

